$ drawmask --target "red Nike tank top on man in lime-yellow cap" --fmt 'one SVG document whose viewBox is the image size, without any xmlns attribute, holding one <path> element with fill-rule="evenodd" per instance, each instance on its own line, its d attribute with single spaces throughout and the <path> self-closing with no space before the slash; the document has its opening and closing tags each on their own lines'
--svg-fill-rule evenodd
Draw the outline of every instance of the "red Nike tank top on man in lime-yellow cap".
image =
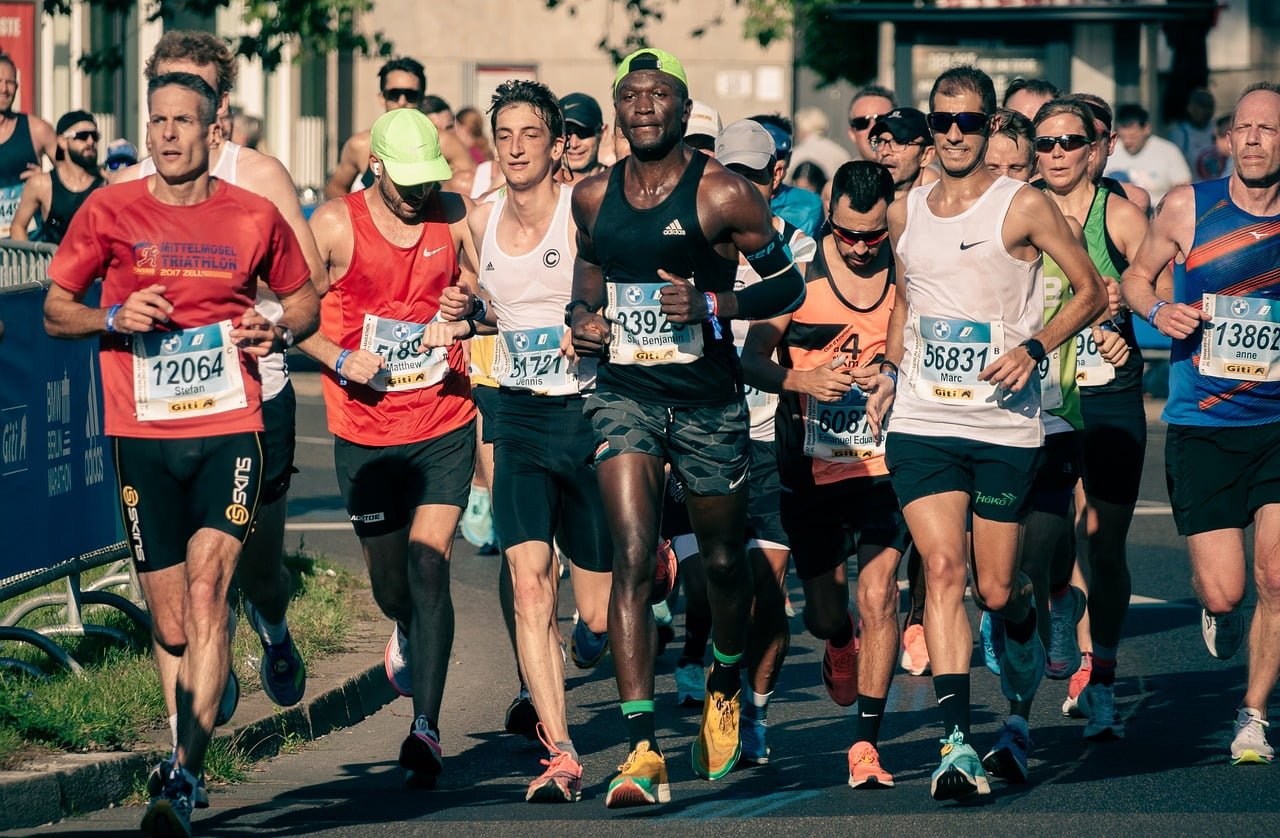
<svg viewBox="0 0 1280 838">
<path fill-rule="evenodd" d="M 397 247 L 378 232 L 365 202 L 372 194 L 366 189 L 342 198 L 351 216 L 351 265 L 320 302 L 320 331 L 344 349 L 364 344 L 367 351 L 385 352 L 388 370 L 402 384 L 371 383 L 387 389 L 355 381 L 343 385 L 325 370 L 329 431 L 360 445 L 420 443 L 462 427 L 476 413 L 462 344 L 443 353 L 438 349 L 435 363 L 419 366 L 412 343 L 419 328 L 439 312 L 440 292 L 457 284 L 458 256 L 439 194 L 426 210 L 421 237 L 410 247 Z M 413 381 L 416 376 L 421 381 Z"/>
</svg>

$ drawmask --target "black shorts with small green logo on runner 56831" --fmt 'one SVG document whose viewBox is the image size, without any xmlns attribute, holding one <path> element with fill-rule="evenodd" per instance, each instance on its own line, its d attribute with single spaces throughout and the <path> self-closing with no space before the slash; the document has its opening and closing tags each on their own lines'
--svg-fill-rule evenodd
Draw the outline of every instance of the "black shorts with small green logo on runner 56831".
<svg viewBox="0 0 1280 838">
<path fill-rule="evenodd" d="M 993 445 L 957 436 L 890 434 L 884 462 L 904 508 L 945 491 L 963 491 L 979 518 L 1015 523 L 1027 517 L 1039 448 Z"/>
</svg>

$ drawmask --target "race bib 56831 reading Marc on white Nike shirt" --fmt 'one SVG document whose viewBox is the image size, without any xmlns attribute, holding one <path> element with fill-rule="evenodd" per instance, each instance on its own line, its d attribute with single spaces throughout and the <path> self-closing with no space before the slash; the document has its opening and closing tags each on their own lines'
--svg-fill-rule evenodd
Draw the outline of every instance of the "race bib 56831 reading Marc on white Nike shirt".
<svg viewBox="0 0 1280 838">
<path fill-rule="evenodd" d="M 916 395 L 946 404 L 977 404 L 996 395 L 978 374 L 1005 351 L 1000 322 L 915 316 L 911 385 Z"/>
</svg>

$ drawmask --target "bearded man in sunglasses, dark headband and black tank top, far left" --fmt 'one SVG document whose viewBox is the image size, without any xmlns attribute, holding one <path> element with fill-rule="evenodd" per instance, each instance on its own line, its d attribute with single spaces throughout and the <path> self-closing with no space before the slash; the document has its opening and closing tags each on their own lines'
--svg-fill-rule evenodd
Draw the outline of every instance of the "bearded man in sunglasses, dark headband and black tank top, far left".
<svg viewBox="0 0 1280 838">
<path fill-rule="evenodd" d="M 38 226 L 31 241 L 58 244 L 84 198 L 106 183 L 97 169 L 97 142 L 102 134 L 93 114 L 83 110 L 63 114 L 54 130 L 58 134 L 54 168 L 27 179 L 9 230 L 15 242 L 27 241 L 27 228 L 35 220 Z"/>
</svg>

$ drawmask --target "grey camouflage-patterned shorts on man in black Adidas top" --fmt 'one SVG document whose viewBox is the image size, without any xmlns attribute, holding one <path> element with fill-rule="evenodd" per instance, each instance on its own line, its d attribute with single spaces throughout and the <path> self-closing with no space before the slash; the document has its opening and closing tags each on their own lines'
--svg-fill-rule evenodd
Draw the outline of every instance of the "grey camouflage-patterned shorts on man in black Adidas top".
<svg viewBox="0 0 1280 838">
<path fill-rule="evenodd" d="M 595 430 L 596 464 L 618 454 L 649 454 L 669 462 L 695 495 L 746 489 L 751 438 L 741 399 L 722 407 L 662 407 L 595 393 L 584 413 Z"/>
</svg>

